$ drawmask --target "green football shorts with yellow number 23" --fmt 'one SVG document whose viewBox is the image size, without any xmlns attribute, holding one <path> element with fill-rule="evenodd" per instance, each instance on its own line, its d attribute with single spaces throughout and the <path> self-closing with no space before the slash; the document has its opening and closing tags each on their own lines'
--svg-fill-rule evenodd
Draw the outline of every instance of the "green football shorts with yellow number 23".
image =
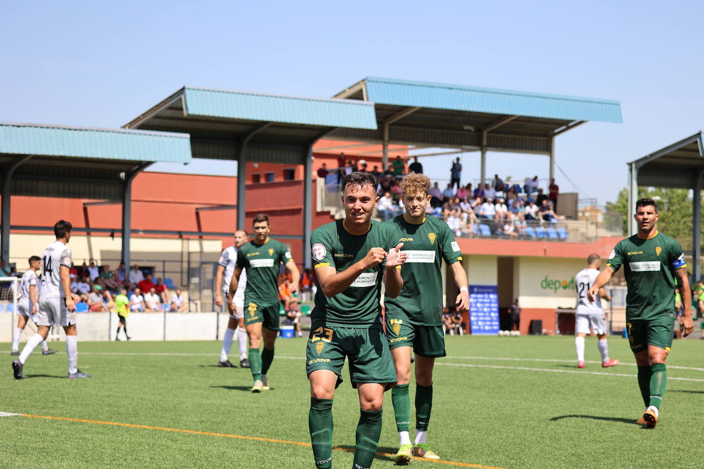
<svg viewBox="0 0 704 469">
<path fill-rule="evenodd" d="M 308 339 L 307 375 L 316 370 L 333 371 L 338 387 L 347 357 L 352 387 L 358 383 L 380 383 L 389 390 L 396 385 L 396 368 L 382 328 L 325 327 L 314 322 Z"/>
</svg>

